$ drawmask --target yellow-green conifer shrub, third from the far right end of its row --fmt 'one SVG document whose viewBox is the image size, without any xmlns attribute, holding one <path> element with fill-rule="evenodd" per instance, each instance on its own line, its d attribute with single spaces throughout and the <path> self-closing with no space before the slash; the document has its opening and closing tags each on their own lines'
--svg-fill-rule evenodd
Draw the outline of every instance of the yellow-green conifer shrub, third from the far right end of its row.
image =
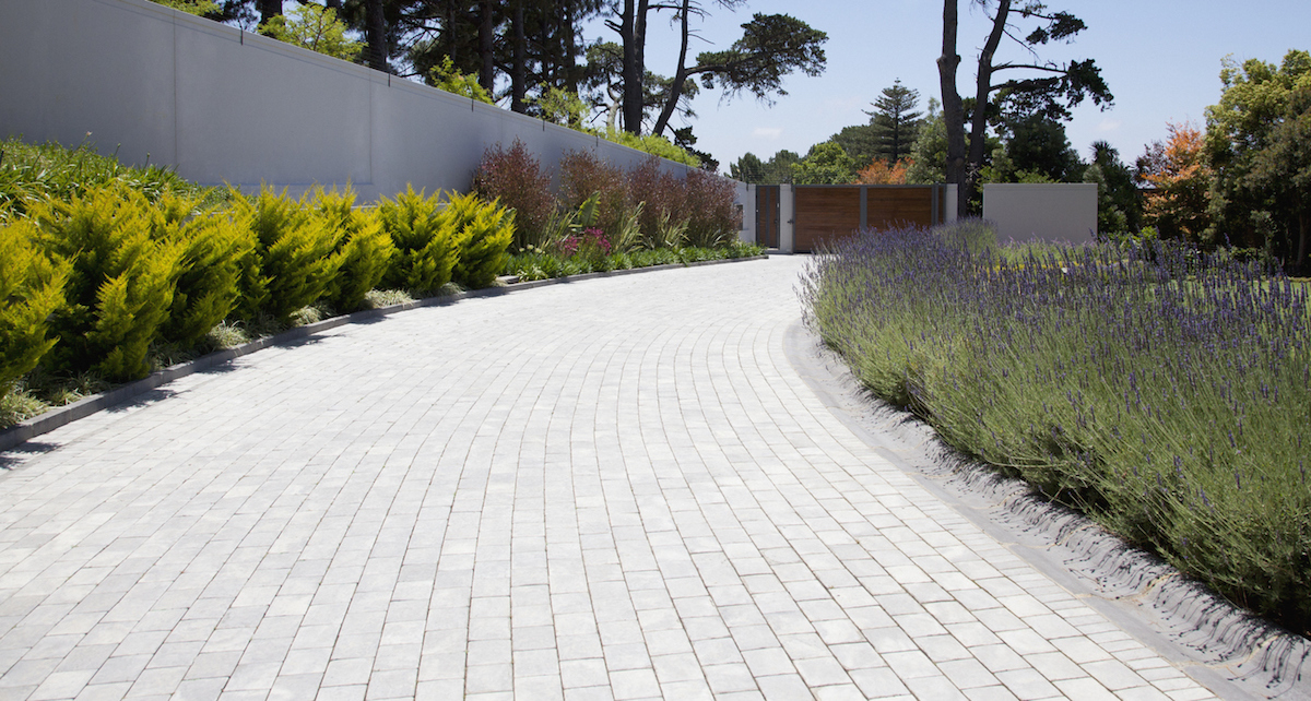
<svg viewBox="0 0 1311 701">
<path fill-rule="evenodd" d="M 364 303 L 364 295 L 378 287 L 396 257 L 396 246 L 383 228 L 376 211 L 355 208 L 355 193 L 319 193 L 317 216 L 341 233 L 337 275 L 328 286 L 328 301 L 340 312 L 351 312 Z"/>
</svg>

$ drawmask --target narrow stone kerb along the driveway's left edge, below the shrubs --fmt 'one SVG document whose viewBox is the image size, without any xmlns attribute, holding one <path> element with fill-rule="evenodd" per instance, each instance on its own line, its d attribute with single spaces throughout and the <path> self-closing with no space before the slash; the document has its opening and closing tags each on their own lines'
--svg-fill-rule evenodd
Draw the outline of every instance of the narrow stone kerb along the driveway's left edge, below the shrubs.
<svg viewBox="0 0 1311 701">
<path fill-rule="evenodd" d="M 392 307 L 382 307 L 379 309 L 366 309 L 363 312 L 354 312 L 350 314 L 325 318 L 315 324 L 307 324 L 304 326 L 298 326 L 295 329 L 282 332 L 277 335 L 260 338 L 249 343 L 237 346 L 235 349 L 224 349 L 197 358 L 195 360 L 166 367 L 161 371 L 152 372 L 140 380 L 127 383 L 121 387 L 115 387 L 114 389 L 110 389 L 108 392 L 101 392 L 100 394 L 90 394 L 88 397 L 83 397 L 81 400 L 77 400 L 72 404 L 51 409 L 45 414 L 33 417 L 26 421 L 21 421 L 8 428 L 0 430 L 0 451 L 9 451 L 17 448 L 39 435 L 49 434 L 50 431 L 54 431 L 55 428 L 72 423 L 80 418 L 89 417 L 111 406 L 123 404 L 127 400 L 131 400 L 132 397 L 144 394 L 152 389 L 163 387 L 180 377 L 186 377 L 187 375 L 211 369 L 214 367 L 222 366 L 223 363 L 241 358 L 243 355 L 249 355 L 258 350 L 267 349 L 270 346 L 284 346 L 295 341 L 302 341 L 317 333 L 323 333 L 329 329 L 336 329 L 337 326 L 343 326 L 346 324 L 361 324 L 379 317 L 391 316 L 397 312 L 417 309 L 420 307 L 443 307 L 447 304 L 454 304 L 461 299 L 493 297 L 499 295 L 509 295 L 511 292 L 532 290 L 535 287 L 544 287 L 548 284 L 564 284 L 579 280 L 590 280 L 593 278 L 612 278 L 617 275 L 629 275 L 635 273 L 653 273 L 657 270 L 670 270 L 679 267 L 699 267 L 708 265 L 737 263 L 743 261 L 763 261 L 766 258 L 768 258 L 768 254 L 749 256 L 743 258 L 722 258 L 717 261 L 696 261 L 691 263 L 665 263 L 665 265 L 656 265 L 646 267 L 610 270 L 603 273 L 585 273 L 581 275 L 566 275 L 564 278 L 551 278 L 545 280 L 530 280 L 530 282 L 506 282 L 506 280 L 514 280 L 514 278 L 501 278 L 501 280 L 506 283 L 503 287 L 485 287 L 482 290 L 469 290 L 467 292 L 458 292 L 454 295 L 442 295 L 435 297 L 425 297 L 421 300 L 406 301 L 404 304 L 395 304 Z"/>
</svg>

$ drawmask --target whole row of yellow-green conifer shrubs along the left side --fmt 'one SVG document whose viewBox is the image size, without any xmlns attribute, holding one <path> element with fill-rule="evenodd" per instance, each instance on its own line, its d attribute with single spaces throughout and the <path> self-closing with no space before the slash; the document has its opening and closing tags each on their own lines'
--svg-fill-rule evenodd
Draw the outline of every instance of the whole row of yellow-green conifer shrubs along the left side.
<svg viewBox="0 0 1311 701">
<path fill-rule="evenodd" d="M 16 180 L 0 170 L 0 182 Z M 5 203 L 0 397 L 34 369 L 143 377 L 152 349 L 203 350 L 224 321 L 275 330 L 312 305 L 351 312 L 384 283 L 425 294 L 454 274 L 485 287 L 503 271 L 513 237 L 513 212 L 475 195 L 450 195 L 443 207 L 409 190 L 357 208 L 349 189 L 246 198 L 100 180 L 45 197 L 25 187 Z"/>
</svg>

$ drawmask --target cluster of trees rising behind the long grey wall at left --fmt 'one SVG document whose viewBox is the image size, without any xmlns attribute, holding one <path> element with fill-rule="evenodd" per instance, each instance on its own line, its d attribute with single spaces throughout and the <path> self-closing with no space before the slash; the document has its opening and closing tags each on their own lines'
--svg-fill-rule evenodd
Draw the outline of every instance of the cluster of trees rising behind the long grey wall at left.
<svg viewBox="0 0 1311 701">
<path fill-rule="evenodd" d="M 156 0 L 231 22 L 379 71 L 422 80 L 460 94 L 489 97 L 514 111 L 570 126 L 671 135 L 692 147 L 692 98 L 720 89 L 725 98 L 750 93 L 770 102 L 785 96 L 784 79 L 825 69 L 823 31 L 788 14 L 755 13 L 726 48 L 691 59 L 697 20 L 737 10 L 749 0 Z M 283 5 L 286 4 L 286 13 Z M 312 21 L 336 17 L 336 34 Z M 670 77 L 646 67 L 646 37 L 670 18 L 682 50 Z M 598 22 L 599 20 L 599 22 Z M 585 37 L 608 28 L 617 41 Z M 603 30 L 604 31 L 604 30 Z M 359 41 L 362 39 L 362 41 Z M 481 90 L 475 89 L 475 83 Z M 578 104 L 586 109 L 582 115 Z M 641 142 L 648 143 L 648 142 Z"/>
</svg>

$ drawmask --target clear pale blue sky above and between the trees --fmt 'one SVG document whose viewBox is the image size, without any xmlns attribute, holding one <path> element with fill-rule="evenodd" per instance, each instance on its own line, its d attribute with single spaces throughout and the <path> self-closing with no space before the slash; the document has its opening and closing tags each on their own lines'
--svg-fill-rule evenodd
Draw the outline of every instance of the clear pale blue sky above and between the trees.
<svg viewBox="0 0 1311 701">
<path fill-rule="evenodd" d="M 1049 7 L 1074 13 L 1088 29 L 1072 45 L 1046 47 L 1042 58 L 1095 59 L 1116 96 L 1112 109 L 1086 105 L 1067 124 L 1070 143 L 1084 159 L 1089 144 L 1105 139 L 1131 164 L 1147 143 L 1165 138 L 1167 122 L 1205 124 L 1206 106 L 1219 100 L 1226 55 L 1278 63 L 1290 48 L 1311 50 L 1311 0 L 1051 0 Z M 735 13 L 714 8 L 701 26 L 709 43 L 694 42 L 692 52 L 726 47 L 753 12 L 792 14 L 826 31 L 829 68 L 821 77 L 785 79 L 789 94 L 772 107 L 750 96 L 722 104 L 718 90 L 704 90 L 691 122 L 696 147 L 714 155 L 722 170 L 749 151 L 762 159 L 780 148 L 805 155 L 842 127 L 865 123 L 860 110 L 872 109 L 880 90 L 898 77 L 918 89 L 923 102 L 940 98 L 935 60 L 941 52 L 943 3 L 937 0 L 753 0 Z M 958 89 L 968 96 L 988 28 L 970 0 L 961 0 L 960 12 Z M 599 25 L 589 28 L 589 38 L 598 35 L 617 41 Z M 675 29 L 665 16 L 654 18 L 648 68 L 673 75 L 676 51 Z M 1012 45 L 1000 58 L 1024 55 Z"/>
</svg>

